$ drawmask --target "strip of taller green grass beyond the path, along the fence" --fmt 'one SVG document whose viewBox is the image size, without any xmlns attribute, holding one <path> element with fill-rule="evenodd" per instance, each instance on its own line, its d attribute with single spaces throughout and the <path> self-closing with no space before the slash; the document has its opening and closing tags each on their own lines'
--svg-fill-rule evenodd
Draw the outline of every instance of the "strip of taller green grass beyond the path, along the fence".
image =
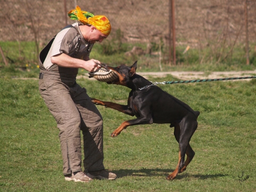
<svg viewBox="0 0 256 192">
<path fill-rule="evenodd" d="M 163 42 L 162 42 L 163 43 Z M 212 42 L 214 46 L 215 42 Z M 159 45 L 151 43 L 152 52 L 159 52 Z M 31 71 L 38 67 L 38 56 L 34 42 L 0 42 L 6 60 L 9 65 L 21 70 Z M 141 47 L 146 50 L 146 43 L 125 43 L 122 42 L 120 34 L 112 40 L 105 40 L 103 43 L 96 43 L 93 46 L 90 58 L 98 59 L 110 66 L 119 66 L 121 64 L 132 65 L 135 60 L 139 61 L 140 71 L 232 71 L 232 70 L 255 70 L 256 69 L 256 52 L 254 51 L 255 43 L 250 44 L 250 65 L 245 65 L 245 51 L 243 44 L 237 44 L 232 54 L 225 53 L 219 56 L 221 50 L 212 51 L 212 47 L 206 47 L 202 50 L 190 48 L 183 54 L 186 47 L 178 45 L 176 47 L 176 66 L 169 64 L 168 47 L 161 46 L 161 61 L 158 54 L 142 54 L 140 56 L 126 56 L 126 51 L 132 48 Z M 39 48 L 41 50 L 42 47 Z M 225 57 L 228 55 L 227 57 Z M 220 58 L 220 59 L 219 59 Z M 224 59 L 225 58 L 225 59 Z M 4 66 L 2 56 L 0 56 L 0 68 Z"/>
</svg>

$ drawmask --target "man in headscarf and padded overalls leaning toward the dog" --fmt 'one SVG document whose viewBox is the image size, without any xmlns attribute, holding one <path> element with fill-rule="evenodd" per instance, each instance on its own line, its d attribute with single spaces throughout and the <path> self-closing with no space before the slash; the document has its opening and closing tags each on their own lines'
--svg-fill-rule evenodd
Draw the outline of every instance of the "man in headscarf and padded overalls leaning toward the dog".
<svg viewBox="0 0 256 192">
<path fill-rule="evenodd" d="M 95 71 L 100 61 L 90 59 L 91 48 L 109 35 L 111 25 L 104 15 L 69 12 L 74 23 L 62 29 L 40 52 L 39 91 L 55 117 L 63 157 L 65 180 L 89 182 L 94 178 L 116 179 L 104 168 L 103 118 L 86 89 L 76 84 L 78 69 Z M 84 172 L 81 169 L 81 136 Z"/>
</svg>

